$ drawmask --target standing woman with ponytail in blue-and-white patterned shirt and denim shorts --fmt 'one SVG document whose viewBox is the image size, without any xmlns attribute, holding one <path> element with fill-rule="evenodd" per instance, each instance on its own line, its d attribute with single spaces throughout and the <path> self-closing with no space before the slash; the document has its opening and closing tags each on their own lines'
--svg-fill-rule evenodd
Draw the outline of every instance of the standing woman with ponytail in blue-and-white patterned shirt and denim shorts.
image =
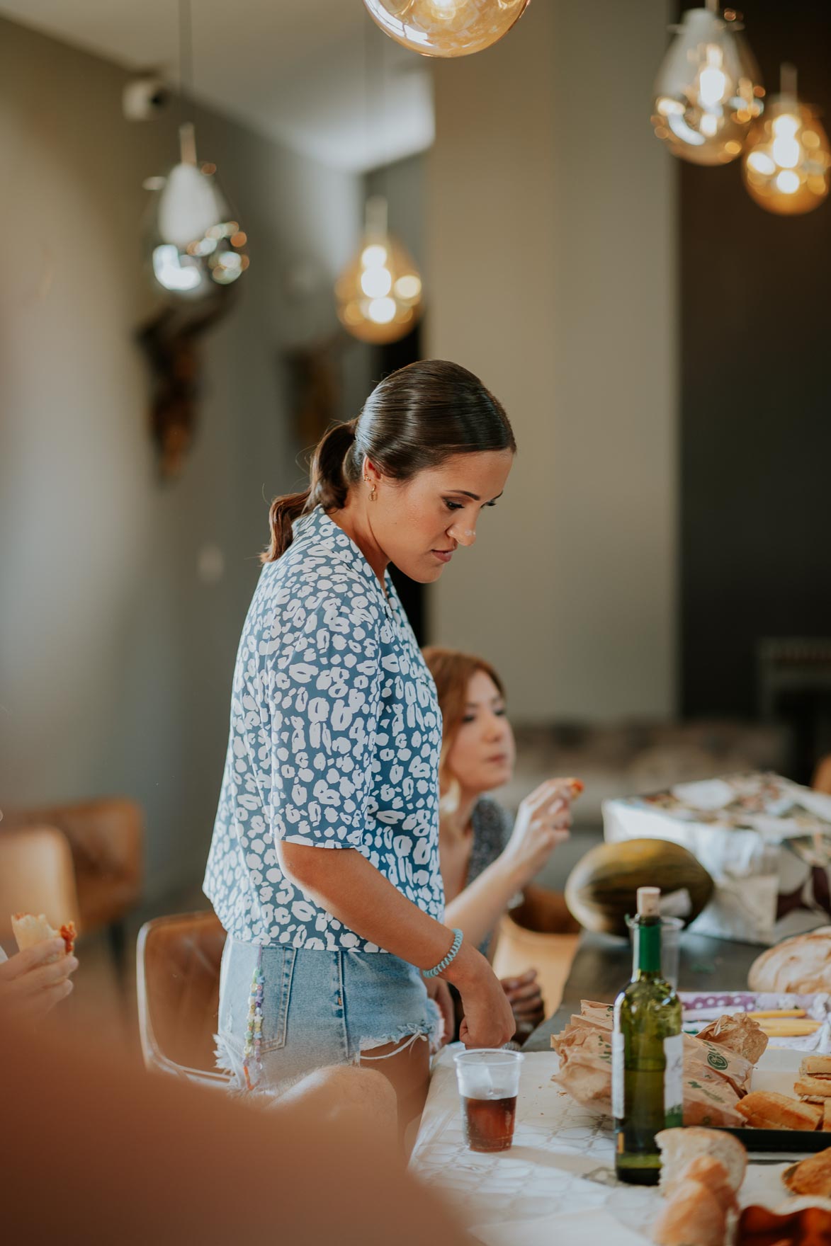
<svg viewBox="0 0 831 1246">
<path fill-rule="evenodd" d="M 220 1058 L 240 1087 L 376 1068 L 403 1131 L 423 1106 L 444 982 L 468 1045 L 513 1033 L 487 959 L 443 922 L 442 718 L 388 567 L 438 579 L 514 451 L 475 376 L 411 364 L 323 437 L 309 488 L 272 503 L 205 878 L 228 936 Z"/>
</svg>

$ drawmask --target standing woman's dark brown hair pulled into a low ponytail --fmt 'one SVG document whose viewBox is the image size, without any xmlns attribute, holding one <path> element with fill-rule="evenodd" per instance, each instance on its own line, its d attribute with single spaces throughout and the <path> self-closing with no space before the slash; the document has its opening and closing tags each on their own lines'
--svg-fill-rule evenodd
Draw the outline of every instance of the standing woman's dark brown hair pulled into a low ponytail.
<svg viewBox="0 0 831 1246">
<path fill-rule="evenodd" d="M 271 543 L 262 562 L 276 562 L 292 543 L 292 523 L 316 506 L 339 511 L 364 459 L 392 480 L 411 480 L 450 455 L 517 450 L 500 402 L 459 364 L 424 359 L 386 376 L 359 419 L 336 424 L 318 442 L 311 483 L 271 503 Z"/>
</svg>

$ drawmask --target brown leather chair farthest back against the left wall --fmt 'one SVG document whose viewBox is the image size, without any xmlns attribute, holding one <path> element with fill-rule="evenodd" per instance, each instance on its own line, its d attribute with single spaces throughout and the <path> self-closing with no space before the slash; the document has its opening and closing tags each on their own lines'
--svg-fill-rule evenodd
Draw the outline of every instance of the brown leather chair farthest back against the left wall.
<svg viewBox="0 0 831 1246">
<path fill-rule="evenodd" d="M 54 826 L 75 863 L 79 928 L 107 928 L 120 972 L 125 968 L 125 917 L 141 897 L 143 811 L 125 797 L 101 797 L 42 809 L 4 809 L 0 840 L 10 831 Z"/>
</svg>

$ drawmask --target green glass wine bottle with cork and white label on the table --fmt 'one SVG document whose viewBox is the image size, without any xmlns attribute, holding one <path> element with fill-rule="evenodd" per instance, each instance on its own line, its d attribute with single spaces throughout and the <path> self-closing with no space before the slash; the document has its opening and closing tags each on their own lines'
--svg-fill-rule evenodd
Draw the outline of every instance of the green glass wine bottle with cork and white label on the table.
<svg viewBox="0 0 831 1246">
<path fill-rule="evenodd" d="M 635 1185 L 658 1184 L 655 1134 L 684 1123 L 681 1001 L 661 977 L 660 896 L 638 888 L 631 982 L 615 999 L 611 1040 L 615 1171 Z"/>
</svg>

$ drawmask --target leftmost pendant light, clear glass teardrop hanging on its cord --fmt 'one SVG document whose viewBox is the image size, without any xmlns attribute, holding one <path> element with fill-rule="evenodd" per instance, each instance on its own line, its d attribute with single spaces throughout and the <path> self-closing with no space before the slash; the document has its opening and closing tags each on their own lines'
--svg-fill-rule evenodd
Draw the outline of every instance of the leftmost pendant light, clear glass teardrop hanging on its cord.
<svg viewBox="0 0 831 1246">
<path fill-rule="evenodd" d="M 180 97 L 192 82 L 190 0 L 180 0 Z M 206 298 L 232 285 L 248 267 L 247 237 L 217 183 L 215 164 L 198 164 L 192 122 L 180 126 L 180 159 L 153 177 L 145 248 L 153 282 L 175 300 Z"/>
</svg>

